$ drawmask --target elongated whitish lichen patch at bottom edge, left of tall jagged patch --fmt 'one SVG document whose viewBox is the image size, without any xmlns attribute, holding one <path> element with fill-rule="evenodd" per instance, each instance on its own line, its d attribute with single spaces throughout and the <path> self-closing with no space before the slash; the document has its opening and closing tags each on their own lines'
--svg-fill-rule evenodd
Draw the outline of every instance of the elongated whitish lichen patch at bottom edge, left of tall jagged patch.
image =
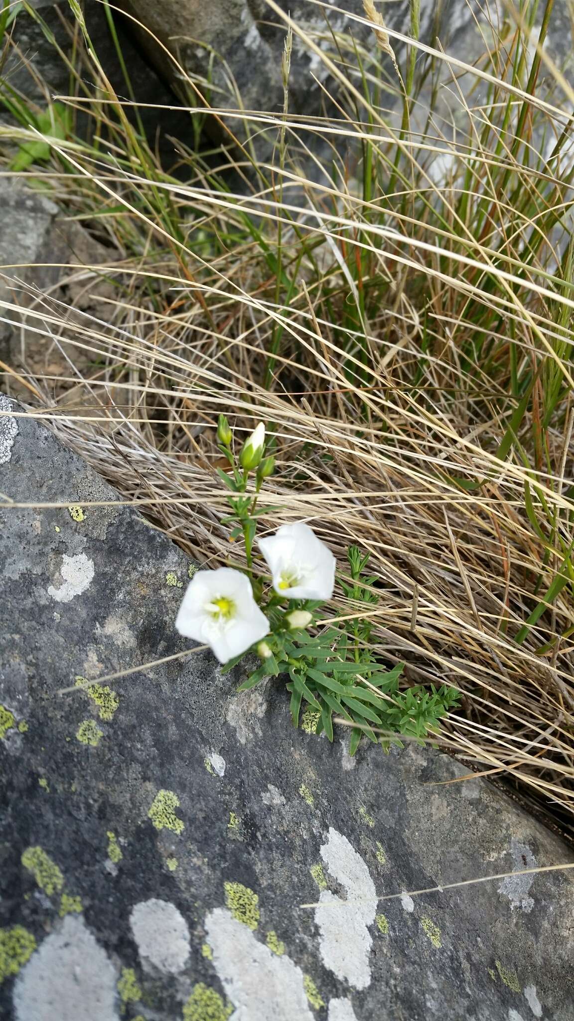
<svg viewBox="0 0 574 1021">
<path fill-rule="evenodd" d="M 290 958 L 274 954 L 225 908 L 209 912 L 205 931 L 237 1021 L 314 1021 L 303 973 Z"/>
</svg>

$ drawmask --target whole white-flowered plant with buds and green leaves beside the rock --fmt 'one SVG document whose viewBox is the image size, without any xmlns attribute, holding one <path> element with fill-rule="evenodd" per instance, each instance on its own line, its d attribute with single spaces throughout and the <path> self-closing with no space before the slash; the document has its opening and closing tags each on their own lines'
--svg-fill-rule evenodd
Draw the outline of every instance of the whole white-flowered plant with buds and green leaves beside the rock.
<svg viewBox="0 0 574 1021">
<path fill-rule="evenodd" d="M 262 423 L 243 444 L 232 450 L 233 434 L 220 416 L 220 450 L 230 472 L 218 469 L 228 488 L 233 523 L 230 538 L 243 536 L 246 570 L 218 568 L 198 571 L 190 582 L 176 620 L 181 634 L 208 644 L 224 670 L 231 670 L 246 652 L 257 652 L 260 665 L 239 690 L 254 687 L 265 677 L 288 675 L 291 718 L 298 726 L 301 706 L 308 732 L 325 732 L 333 740 L 333 722 L 351 726 L 351 755 L 362 734 L 388 746 L 400 743 L 395 734 L 416 739 L 436 732 L 439 720 L 457 704 L 452 688 L 398 688 L 403 664 L 385 670 L 371 642 L 372 617 L 357 612 L 328 620 L 322 604 L 333 596 L 336 562 L 328 546 L 308 525 L 282 525 L 275 535 L 258 540 L 269 568 L 271 585 L 254 570 L 254 540 L 258 520 L 276 509 L 258 507 L 265 479 L 273 475 L 275 458 L 266 455 Z M 269 450 L 268 444 L 268 450 Z M 254 483 L 254 485 L 252 484 Z M 369 555 L 356 546 L 347 551 L 350 581 L 340 584 L 353 603 L 372 609 L 378 601 L 375 576 L 367 576 Z M 309 630 L 314 628 L 315 634 Z"/>
</svg>

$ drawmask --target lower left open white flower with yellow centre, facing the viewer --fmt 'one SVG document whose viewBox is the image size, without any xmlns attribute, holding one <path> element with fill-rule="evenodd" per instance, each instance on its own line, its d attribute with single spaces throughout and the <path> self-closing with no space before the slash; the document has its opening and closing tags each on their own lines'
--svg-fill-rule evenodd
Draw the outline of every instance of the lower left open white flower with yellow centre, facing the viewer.
<svg viewBox="0 0 574 1021">
<path fill-rule="evenodd" d="M 269 634 L 269 621 L 240 571 L 198 571 L 187 587 L 176 627 L 181 635 L 210 645 L 220 663 L 245 652 Z"/>
</svg>

